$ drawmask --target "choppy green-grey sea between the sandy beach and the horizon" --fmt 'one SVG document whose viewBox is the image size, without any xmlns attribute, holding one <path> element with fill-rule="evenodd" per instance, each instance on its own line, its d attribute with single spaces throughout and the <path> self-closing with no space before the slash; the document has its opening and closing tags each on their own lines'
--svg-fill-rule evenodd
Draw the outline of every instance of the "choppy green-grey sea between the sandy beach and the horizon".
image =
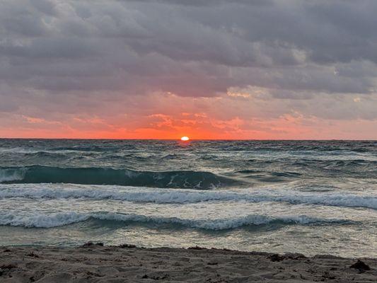
<svg viewBox="0 0 377 283">
<path fill-rule="evenodd" d="M 376 141 L 0 139 L 0 245 L 377 256 Z"/>
</svg>

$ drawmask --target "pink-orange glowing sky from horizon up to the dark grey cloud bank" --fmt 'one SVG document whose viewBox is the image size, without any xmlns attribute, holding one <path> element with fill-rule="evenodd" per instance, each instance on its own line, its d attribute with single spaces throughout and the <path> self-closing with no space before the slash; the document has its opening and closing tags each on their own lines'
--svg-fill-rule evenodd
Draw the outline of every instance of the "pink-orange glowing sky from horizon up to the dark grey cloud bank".
<svg viewBox="0 0 377 283">
<path fill-rule="evenodd" d="M 134 98 L 134 103 L 143 107 L 143 99 Z M 279 108 L 272 109 L 277 107 L 274 102 L 244 96 L 182 98 L 158 93 L 149 96 L 146 103 L 149 107 L 144 105 L 143 112 L 129 110 L 126 106 L 129 101 L 118 101 L 95 115 L 84 109 L 81 115 L 58 113 L 49 119 L 24 114 L 2 115 L 0 136 L 93 139 L 179 139 L 184 135 L 191 139 L 376 138 L 376 123 L 373 121 L 305 116 L 294 110 L 282 110 L 284 100 L 279 102 Z M 123 106 L 124 112 L 128 113 L 121 112 Z M 108 109 L 116 111 L 111 114 Z M 33 109 L 25 108 L 22 112 L 31 113 Z"/>
</svg>

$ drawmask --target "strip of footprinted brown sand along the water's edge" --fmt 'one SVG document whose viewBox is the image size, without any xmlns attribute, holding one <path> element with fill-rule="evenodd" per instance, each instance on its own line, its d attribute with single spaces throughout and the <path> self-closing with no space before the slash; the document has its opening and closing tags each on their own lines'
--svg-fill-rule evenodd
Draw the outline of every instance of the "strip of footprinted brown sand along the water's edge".
<svg viewBox="0 0 377 283">
<path fill-rule="evenodd" d="M 377 282 L 377 259 L 102 244 L 0 248 L 0 282 L 156 281 Z"/>
</svg>

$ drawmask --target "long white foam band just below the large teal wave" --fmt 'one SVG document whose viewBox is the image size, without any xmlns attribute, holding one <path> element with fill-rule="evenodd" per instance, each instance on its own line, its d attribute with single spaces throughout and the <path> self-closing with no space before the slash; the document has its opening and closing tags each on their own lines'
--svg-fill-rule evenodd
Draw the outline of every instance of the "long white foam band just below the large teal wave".
<svg viewBox="0 0 377 283">
<path fill-rule="evenodd" d="M 0 198 L 25 197 L 35 199 L 95 199 L 120 200 L 129 202 L 154 202 L 159 204 L 185 204 L 211 201 L 233 202 L 288 202 L 290 204 L 320 204 L 333 207 L 366 207 L 377 209 L 377 196 L 363 196 L 335 193 L 308 193 L 297 191 L 263 190 L 256 192 L 235 191 L 197 191 L 179 189 L 147 189 L 143 187 L 103 186 L 66 188 L 43 187 L 49 184 L 38 184 L 37 187 L 16 187 L 3 185 Z M 42 186 L 42 187 L 41 187 Z M 106 186 L 108 187 L 108 186 Z"/>
</svg>

